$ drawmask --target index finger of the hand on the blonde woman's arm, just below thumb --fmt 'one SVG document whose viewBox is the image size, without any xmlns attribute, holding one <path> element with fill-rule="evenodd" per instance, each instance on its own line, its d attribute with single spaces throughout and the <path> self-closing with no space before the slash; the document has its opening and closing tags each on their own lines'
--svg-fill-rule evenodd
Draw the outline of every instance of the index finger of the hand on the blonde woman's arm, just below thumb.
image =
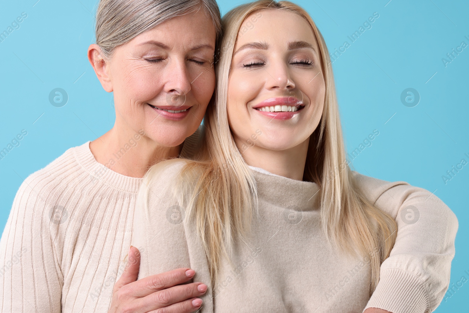
<svg viewBox="0 0 469 313">
<path fill-rule="evenodd" d="M 134 282 L 132 288 L 139 291 L 140 297 L 144 297 L 155 291 L 188 282 L 195 273 L 193 269 L 187 267 L 178 268 L 169 272 L 144 277 Z"/>
</svg>

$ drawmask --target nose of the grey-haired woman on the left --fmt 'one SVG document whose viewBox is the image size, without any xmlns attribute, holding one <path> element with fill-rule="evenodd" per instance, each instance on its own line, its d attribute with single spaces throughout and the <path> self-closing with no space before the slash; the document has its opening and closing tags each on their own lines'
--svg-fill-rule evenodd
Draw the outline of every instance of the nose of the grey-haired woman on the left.
<svg viewBox="0 0 469 313">
<path fill-rule="evenodd" d="M 185 60 L 170 62 L 166 71 L 166 93 L 173 96 L 185 96 L 190 92 L 190 78 Z"/>
</svg>

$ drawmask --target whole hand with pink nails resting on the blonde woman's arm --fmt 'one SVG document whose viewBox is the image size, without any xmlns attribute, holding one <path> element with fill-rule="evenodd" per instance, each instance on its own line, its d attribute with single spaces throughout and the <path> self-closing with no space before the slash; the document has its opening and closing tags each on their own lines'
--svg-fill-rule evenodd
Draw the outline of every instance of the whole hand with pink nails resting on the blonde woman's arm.
<svg viewBox="0 0 469 313">
<path fill-rule="evenodd" d="M 127 266 L 114 285 L 108 313 L 190 313 L 200 308 L 202 299 L 194 297 L 203 295 L 207 286 L 201 282 L 183 284 L 195 275 L 194 270 L 178 268 L 137 281 L 139 267 L 140 252 L 131 246 Z"/>
</svg>

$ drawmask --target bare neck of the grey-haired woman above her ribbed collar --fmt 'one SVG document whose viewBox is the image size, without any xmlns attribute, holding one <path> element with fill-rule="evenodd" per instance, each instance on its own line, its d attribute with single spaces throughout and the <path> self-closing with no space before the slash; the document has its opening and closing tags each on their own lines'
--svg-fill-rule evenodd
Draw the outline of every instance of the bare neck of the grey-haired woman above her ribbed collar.
<svg viewBox="0 0 469 313">
<path fill-rule="evenodd" d="M 151 165 L 181 153 L 182 144 L 175 147 L 162 146 L 146 137 L 144 131 L 136 133 L 117 122 L 113 128 L 90 143 L 95 159 L 119 174 L 144 176 Z"/>
</svg>

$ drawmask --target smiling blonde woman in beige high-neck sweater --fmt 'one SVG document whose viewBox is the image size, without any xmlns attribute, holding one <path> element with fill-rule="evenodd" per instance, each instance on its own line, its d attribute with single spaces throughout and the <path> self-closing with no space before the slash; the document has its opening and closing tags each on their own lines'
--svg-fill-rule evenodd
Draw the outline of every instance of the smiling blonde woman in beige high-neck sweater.
<svg viewBox="0 0 469 313">
<path fill-rule="evenodd" d="M 349 168 L 310 15 L 261 0 L 228 12 L 223 30 L 204 157 L 160 162 L 144 178 L 139 279 L 195 269 L 210 282 L 204 313 L 433 311 L 458 221 L 429 191 Z"/>
</svg>

